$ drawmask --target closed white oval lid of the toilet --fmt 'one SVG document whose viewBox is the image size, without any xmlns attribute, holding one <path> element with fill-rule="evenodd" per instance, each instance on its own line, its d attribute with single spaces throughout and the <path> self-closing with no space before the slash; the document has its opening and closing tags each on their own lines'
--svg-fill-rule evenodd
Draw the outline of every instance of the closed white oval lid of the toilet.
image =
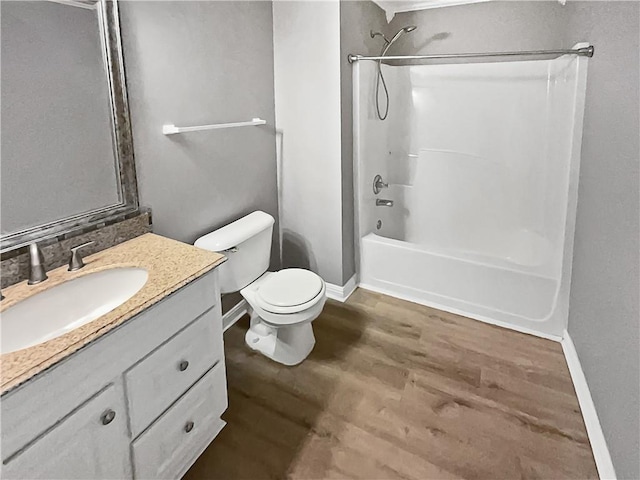
<svg viewBox="0 0 640 480">
<path fill-rule="evenodd" d="M 293 307 L 313 300 L 322 279 L 309 270 L 286 268 L 271 275 L 258 289 L 260 300 L 276 307 Z"/>
</svg>

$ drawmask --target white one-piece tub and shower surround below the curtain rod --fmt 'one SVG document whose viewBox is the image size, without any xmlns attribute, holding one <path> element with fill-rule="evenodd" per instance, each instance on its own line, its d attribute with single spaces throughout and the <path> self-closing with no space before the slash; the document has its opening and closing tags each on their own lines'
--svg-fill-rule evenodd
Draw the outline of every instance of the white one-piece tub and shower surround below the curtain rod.
<svg viewBox="0 0 640 480">
<path fill-rule="evenodd" d="M 587 63 L 383 65 L 386 121 L 375 62 L 354 64 L 361 285 L 560 339 Z M 378 174 L 389 186 L 376 194 Z"/>
</svg>

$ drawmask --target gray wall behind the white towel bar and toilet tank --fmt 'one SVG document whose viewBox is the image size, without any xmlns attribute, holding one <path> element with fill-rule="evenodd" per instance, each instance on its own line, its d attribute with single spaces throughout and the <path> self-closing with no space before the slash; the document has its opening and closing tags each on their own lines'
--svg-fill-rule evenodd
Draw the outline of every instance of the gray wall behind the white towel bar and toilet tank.
<svg viewBox="0 0 640 480">
<path fill-rule="evenodd" d="M 193 242 L 256 209 L 277 218 L 271 2 L 120 6 L 140 200 L 154 231 Z M 161 132 L 253 117 L 267 125 Z"/>
</svg>

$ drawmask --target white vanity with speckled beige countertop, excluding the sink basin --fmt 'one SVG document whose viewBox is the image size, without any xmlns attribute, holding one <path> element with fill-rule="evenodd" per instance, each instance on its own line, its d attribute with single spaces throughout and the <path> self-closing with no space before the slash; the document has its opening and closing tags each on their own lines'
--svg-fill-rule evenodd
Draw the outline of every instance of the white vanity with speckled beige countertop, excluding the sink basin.
<svg viewBox="0 0 640 480">
<path fill-rule="evenodd" d="M 225 425 L 215 269 L 224 260 L 147 234 L 88 257 L 79 272 L 61 267 L 43 284 L 3 292 L 6 311 L 91 272 L 149 274 L 116 309 L 0 357 L 2 478 L 181 477 Z"/>
</svg>

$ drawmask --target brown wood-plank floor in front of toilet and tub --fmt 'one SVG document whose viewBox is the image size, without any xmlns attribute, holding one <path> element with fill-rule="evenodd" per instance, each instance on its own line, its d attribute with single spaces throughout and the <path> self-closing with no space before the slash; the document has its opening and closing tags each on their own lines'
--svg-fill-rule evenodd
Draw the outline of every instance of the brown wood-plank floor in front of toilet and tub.
<svg viewBox="0 0 640 480">
<path fill-rule="evenodd" d="M 225 333 L 228 425 L 185 476 L 597 478 L 558 343 L 357 290 L 297 367 Z"/>
</svg>

